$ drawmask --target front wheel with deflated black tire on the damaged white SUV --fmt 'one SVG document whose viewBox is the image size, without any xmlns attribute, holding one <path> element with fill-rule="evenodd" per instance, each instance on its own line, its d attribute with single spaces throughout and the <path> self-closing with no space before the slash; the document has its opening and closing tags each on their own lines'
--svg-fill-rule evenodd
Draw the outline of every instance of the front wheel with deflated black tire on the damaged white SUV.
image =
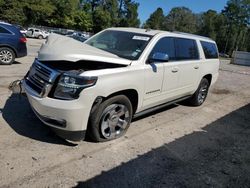
<svg viewBox="0 0 250 188">
<path fill-rule="evenodd" d="M 97 142 L 120 138 L 129 128 L 132 115 L 132 104 L 126 96 L 109 98 L 91 113 L 88 134 Z"/>
</svg>

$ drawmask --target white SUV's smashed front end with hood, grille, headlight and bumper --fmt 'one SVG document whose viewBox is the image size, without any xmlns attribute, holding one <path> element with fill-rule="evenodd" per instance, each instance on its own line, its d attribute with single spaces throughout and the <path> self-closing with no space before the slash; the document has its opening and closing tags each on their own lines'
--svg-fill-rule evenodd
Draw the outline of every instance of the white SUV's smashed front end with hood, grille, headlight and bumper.
<svg viewBox="0 0 250 188">
<path fill-rule="evenodd" d="M 82 91 L 94 89 L 102 70 L 105 73 L 107 69 L 130 64 L 130 60 L 74 39 L 51 35 L 39 50 L 22 85 L 37 117 L 59 136 L 76 141 L 85 135 L 95 102 L 94 95 Z"/>
</svg>

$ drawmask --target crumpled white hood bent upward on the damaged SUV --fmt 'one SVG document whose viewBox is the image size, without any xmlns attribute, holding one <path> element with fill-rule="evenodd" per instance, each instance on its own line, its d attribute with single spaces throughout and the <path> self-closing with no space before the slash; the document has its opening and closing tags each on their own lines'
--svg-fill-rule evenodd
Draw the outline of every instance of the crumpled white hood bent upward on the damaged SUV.
<svg viewBox="0 0 250 188">
<path fill-rule="evenodd" d="M 100 61 L 112 64 L 129 65 L 130 60 L 100 50 L 75 39 L 51 34 L 38 52 L 40 61 Z"/>
</svg>

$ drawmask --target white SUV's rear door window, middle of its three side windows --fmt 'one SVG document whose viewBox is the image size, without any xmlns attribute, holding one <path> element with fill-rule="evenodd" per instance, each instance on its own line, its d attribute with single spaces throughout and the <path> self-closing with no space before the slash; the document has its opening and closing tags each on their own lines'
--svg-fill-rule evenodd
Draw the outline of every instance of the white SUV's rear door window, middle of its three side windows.
<svg viewBox="0 0 250 188">
<path fill-rule="evenodd" d="M 199 58 L 195 40 L 175 38 L 176 60 L 194 60 Z"/>
</svg>

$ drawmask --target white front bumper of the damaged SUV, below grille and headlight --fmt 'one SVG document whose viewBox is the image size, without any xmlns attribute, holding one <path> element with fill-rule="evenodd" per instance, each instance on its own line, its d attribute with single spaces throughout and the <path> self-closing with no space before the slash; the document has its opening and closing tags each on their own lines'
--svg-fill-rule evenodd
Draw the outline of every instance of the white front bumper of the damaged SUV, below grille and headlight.
<svg viewBox="0 0 250 188">
<path fill-rule="evenodd" d="M 73 101 L 40 98 L 25 81 L 22 84 L 33 111 L 44 124 L 52 127 L 65 139 L 83 139 L 93 104 L 87 96 L 84 102 L 80 98 Z"/>
</svg>

